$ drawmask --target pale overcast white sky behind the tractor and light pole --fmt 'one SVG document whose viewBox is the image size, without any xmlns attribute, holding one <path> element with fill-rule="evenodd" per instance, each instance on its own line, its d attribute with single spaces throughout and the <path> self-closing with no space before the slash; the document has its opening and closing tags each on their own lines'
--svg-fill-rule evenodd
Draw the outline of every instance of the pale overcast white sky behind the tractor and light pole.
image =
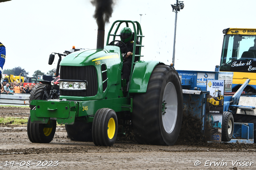
<svg viewBox="0 0 256 170">
<path fill-rule="evenodd" d="M 108 30 L 116 20 L 140 21 L 145 35 L 142 60 L 172 63 L 176 0 L 116 0 Z M 220 64 L 223 34 L 229 27 L 255 28 L 255 0 L 185 0 L 178 12 L 176 70 L 214 71 Z M 56 68 L 52 52 L 96 48 L 97 24 L 90 0 L 11 0 L 0 3 L 0 42 L 6 47 L 4 69 L 20 66 L 32 76 Z M 143 14 L 140 16 L 140 14 Z M 104 44 L 105 44 L 104 43 Z"/>
</svg>

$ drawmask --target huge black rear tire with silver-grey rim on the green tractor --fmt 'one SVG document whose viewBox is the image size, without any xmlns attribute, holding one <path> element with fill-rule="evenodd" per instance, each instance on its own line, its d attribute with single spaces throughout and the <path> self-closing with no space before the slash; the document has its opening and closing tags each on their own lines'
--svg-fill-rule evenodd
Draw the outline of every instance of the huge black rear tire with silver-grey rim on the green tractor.
<svg viewBox="0 0 256 170">
<path fill-rule="evenodd" d="M 147 145 L 174 145 L 183 114 L 180 77 L 167 65 L 157 65 L 146 93 L 133 98 L 132 126 L 136 141 Z"/>
</svg>

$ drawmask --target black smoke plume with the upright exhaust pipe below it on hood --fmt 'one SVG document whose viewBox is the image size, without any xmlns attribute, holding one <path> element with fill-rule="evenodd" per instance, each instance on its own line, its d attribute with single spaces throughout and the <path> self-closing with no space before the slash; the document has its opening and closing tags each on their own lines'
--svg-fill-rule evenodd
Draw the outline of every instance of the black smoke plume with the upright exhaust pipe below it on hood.
<svg viewBox="0 0 256 170">
<path fill-rule="evenodd" d="M 112 16 L 114 0 L 92 0 L 91 3 L 95 6 L 93 17 L 96 19 L 98 25 L 97 49 L 103 49 L 105 23 L 108 23 Z"/>
</svg>

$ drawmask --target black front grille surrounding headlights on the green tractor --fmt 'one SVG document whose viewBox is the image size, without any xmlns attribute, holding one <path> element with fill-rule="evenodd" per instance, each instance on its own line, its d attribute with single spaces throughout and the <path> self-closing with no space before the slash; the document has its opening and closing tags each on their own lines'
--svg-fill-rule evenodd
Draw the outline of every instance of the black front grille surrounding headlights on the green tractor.
<svg viewBox="0 0 256 170">
<path fill-rule="evenodd" d="M 95 96 L 98 92 L 98 78 L 94 66 L 60 66 L 60 79 L 86 80 L 87 90 L 60 90 L 61 96 Z"/>
</svg>

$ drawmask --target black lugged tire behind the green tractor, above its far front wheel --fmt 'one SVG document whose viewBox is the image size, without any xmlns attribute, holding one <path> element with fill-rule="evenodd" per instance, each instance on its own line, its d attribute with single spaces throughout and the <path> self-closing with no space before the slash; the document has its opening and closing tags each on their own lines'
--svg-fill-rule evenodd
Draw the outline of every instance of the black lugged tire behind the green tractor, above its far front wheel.
<svg viewBox="0 0 256 170">
<path fill-rule="evenodd" d="M 51 86 L 49 84 L 38 84 L 32 88 L 29 97 L 29 103 L 32 100 L 46 100 L 46 95 L 44 94 L 44 86 L 46 86 L 46 91 L 48 95 L 50 94 Z M 34 105 L 29 105 L 30 109 L 34 109 Z"/>
</svg>

